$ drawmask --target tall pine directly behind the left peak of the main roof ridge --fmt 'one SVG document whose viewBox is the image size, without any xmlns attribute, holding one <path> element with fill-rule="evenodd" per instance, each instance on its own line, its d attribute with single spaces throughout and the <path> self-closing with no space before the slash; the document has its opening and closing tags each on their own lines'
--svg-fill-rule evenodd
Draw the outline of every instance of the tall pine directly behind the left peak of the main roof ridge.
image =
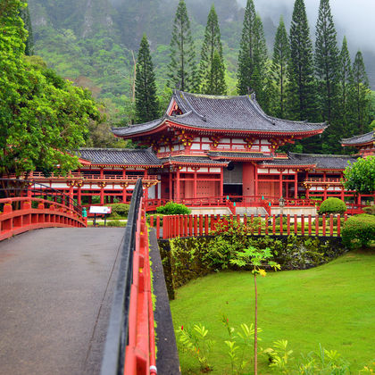
<svg viewBox="0 0 375 375">
<path fill-rule="evenodd" d="M 179 0 L 171 36 L 169 86 L 182 91 L 196 92 L 196 47 L 191 36 L 190 21 L 184 0 Z"/>
</svg>

